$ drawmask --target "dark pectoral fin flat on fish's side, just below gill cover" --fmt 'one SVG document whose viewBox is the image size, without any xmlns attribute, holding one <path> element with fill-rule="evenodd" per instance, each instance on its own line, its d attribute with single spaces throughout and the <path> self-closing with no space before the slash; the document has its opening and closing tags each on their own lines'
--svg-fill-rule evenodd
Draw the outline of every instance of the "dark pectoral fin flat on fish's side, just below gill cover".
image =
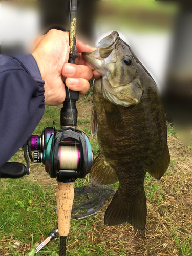
<svg viewBox="0 0 192 256">
<path fill-rule="evenodd" d="M 125 132 L 125 126 L 118 106 L 104 100 L 104 109 L 109 130 L 115 135 L 123 135 Z"/>
</svg>

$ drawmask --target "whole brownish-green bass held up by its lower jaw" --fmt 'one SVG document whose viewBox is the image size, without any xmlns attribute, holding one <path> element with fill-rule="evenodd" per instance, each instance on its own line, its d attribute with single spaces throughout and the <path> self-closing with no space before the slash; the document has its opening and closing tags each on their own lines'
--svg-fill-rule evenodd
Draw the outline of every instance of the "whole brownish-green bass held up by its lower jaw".
<svg viewBox="0 0 192 256">
<path fill-rule="evenodd" d="M 130 223 L 144 230 L 146 172 L 159 180 L 169 162 L 165 114 L 156 83 L 117 31 L 83 58 L 101 74 L 94 81 L 91 133 L 99 154 L 90 181 L 119 188 L 105 211 L 104 224 Z"/>
</svg>

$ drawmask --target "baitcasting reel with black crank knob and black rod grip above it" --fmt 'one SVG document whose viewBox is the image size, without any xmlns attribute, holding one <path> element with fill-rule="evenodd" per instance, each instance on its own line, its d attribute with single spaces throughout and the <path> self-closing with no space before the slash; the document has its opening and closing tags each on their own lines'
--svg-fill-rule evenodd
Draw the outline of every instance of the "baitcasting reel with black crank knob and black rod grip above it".
<svg viewBox="0 0 192 256">
<path fill-rule="evenodd" d="M 30 161 L 43 163 L 51 178 L 57 177 L 62 183 L 84 178 L 91 170 L 93 153 L 85 133 L 76 129 L 78 95 L 71 91 L 71 99 L 66 90 L 66 100 L 60 112 L 61 129 L 47 127 L 42 134 L 32 135 L 24 144 L 24 157 L 27 165 L 8 162 L 0 167 L 0 178 L 21 178 L 30 172 Z M 71 100 L 71 101 L 70 101 Z M 29 153 L 29 157 L 27 154 Z M 34 151 L 32 157 L 32 151 Z"/>
</svg>

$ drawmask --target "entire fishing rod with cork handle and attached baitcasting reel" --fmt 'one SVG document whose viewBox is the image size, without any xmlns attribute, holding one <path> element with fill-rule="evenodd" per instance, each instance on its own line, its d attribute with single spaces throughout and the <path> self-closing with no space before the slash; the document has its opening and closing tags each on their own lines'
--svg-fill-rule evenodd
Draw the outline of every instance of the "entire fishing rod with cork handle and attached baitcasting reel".
<svg viewBox="0 0 192 256">
<path fill-rule="evenodd" d="M 75 63 L 76 54 L 77 0 L 70 0 L 69 63 Z M 65 85 L 66 87 L 66 85 Z M 32 135 L 24 145 L 26 165 L 17 162 L 6 163 L 0 168 L 1 178 L 20 178 L 30 172 L 30 161 L 43 163 L 51 178 L 57 178 L 57 216 L 60 235 L 59 256 L 66 255 L 66 238 L 70 230 L 71 210 L 74 199 L 73 184 L 77 178 L 84 178 L 91 170 L 93 152 L 85 133 L 76 129 L 76 101 L 79 92 L 66 87 L 66 99 L 60 111 L 60 130 L 46 127 L 41 135 Z M 27 154 L 28 150 L 28 154 Z M 32 157 L 32 151 L 34 151 Z M 46 242 L 50 240 L 48 236 Z M 40 248 L 40 247 L 39 247 Z"/>
</svg>

